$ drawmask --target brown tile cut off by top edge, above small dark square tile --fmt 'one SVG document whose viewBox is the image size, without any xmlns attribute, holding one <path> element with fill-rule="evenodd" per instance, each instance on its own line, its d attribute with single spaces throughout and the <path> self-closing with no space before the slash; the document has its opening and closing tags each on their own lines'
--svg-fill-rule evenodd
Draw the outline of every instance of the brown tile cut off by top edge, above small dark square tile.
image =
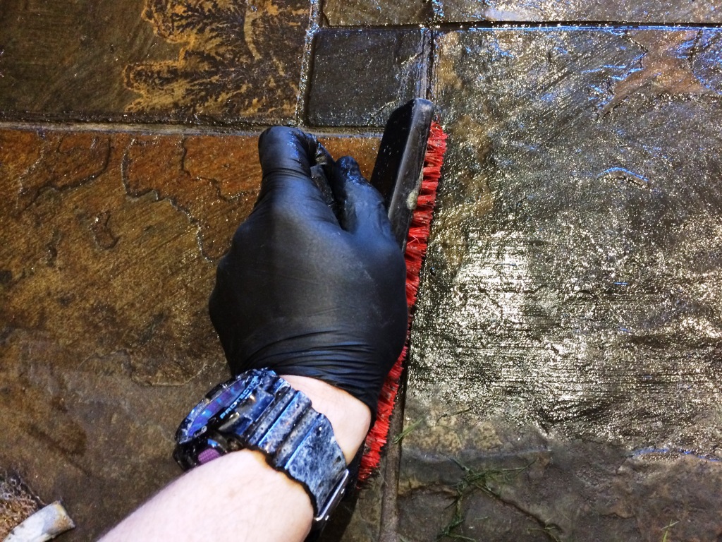
<svg viewBox="0 0 722 542">
<path fill-rule="evenodd" d="M 432 2 L 380 0 L 327 0 L 323 17 L 330 26 L 413 25 L 430 22 Z"/>
</svg>

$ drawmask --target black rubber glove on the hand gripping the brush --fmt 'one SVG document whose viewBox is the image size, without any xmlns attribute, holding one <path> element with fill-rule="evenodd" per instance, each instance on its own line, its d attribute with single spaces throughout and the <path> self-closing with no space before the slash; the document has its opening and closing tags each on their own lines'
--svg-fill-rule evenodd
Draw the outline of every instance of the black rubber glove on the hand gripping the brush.
<svg viewBox="0 0 722 542">
<path fill-rule="evenodd" d="M 380 194 L 355 160 L 334 163 L 300 130 L 268 129 L 258 148 L 261 192 L 218 264 L 209 303 L 230 368 L 321 379 L 375 418 L 407 318 L 404 258 Z M 317 160 L 326 200 L 311 178 Z"/>
</svg>

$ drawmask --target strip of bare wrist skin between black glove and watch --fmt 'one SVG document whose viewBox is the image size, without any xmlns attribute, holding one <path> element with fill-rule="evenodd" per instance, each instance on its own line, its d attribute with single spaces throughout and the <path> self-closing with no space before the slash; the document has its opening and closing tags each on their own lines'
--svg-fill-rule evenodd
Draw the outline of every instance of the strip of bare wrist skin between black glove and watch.
<svg viewBox="0 0 722 542">
<path fill-rule="evenodd" d="M 279 374 L 279 377 L 307 395 L 313 409 L 329 418 L 336 442 L 344 452 L 346 463 L 350 463 L 369 430 L 371 412 L 368 407 L 348 392 L 322 380 L 293 374 Z"/>
</svg>

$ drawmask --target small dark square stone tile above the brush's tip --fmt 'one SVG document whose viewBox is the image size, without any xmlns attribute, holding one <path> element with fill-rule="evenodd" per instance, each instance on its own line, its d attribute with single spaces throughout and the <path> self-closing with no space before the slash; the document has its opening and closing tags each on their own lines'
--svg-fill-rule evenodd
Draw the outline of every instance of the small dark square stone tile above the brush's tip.
<svg viewBox="0 0 722 542">
<path fill-rule="evenodd" d="M 316 35 L 308 120 L 314 126 L 383 126 L 426 95 L 425 30 L 323 30 Z"/>
</svg>

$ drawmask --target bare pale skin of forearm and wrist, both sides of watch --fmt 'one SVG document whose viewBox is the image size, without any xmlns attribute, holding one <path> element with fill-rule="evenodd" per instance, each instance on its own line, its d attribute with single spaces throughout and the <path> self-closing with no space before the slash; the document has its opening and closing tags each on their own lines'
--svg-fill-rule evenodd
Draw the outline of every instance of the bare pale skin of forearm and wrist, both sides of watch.
<svg viewBox="0 0 722 542">
<path fill-rule="evenodd" d="M 369 429 L 367 406 L 321 380 L 281 376 L 329 418 L 349 463 Z M 188 471 L 101 542 L 303 542 L 312 520 L 313 507 L 300 483 L 271 468 L 261 452 L 240 450 Z"/>
</svg>

